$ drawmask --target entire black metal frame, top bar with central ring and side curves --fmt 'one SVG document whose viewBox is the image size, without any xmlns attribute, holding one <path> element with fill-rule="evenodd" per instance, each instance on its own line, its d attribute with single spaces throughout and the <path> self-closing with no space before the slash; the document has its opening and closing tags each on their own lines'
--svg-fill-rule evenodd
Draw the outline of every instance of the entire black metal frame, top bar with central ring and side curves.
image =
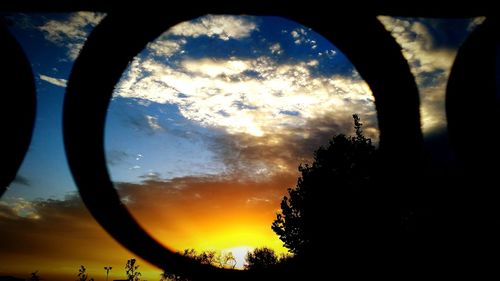
<svg viewBox="0 0 500 281">
<path fill-rule="evenodd" d="M 418 177 L 418 174 L 422 172 L 423 139 L 420 130 L 419 96 L 414 77 L 401 54 L 400 46 L 376 19 L 376 15 L 449 17 L 489 14 L 478 5 L 473 9 L 462 8 L 453 13 L 440 7 L 432 11 L 418 8 L 398 9 L 393 8 L 393 3 L 388 1 L 375 2 L 378 4 L 369 6 L 368 11 L 357 13 L 352 12 L 354 8 L 357 8 L 353 5 L 345 8 L 346 13 L 325 12 L 321 8 L 315 8 L 314 3 L 304 9 L 288 6 L 280 8 L 279 5 L 288 4 L 286 1 L 278 1 L 273 3 L 274 5 L 266 5 L 262 1 L 239 3 L 238 7 L 235 7 L 234 3 L 217 1 L 209 4 L 195 4 L 197 6 L 194 8 L 188 8 L 188 3 L 185 3 L 180 9 L 176 8 L 176 11 L 181 12 L 167 15 L 151 11 L 131 12 L 129 9 L 118 11 L 113 5 L 96 5 L 87 1 L 76 1 L 71 5 L 66 1 L 48 3 L 44 6 L 40 5 L 39 1 L 25 1 L 22 5 L 7 2 L 2 3 L 0 7 L 13 11 L 72 11 L 90 8 L 109 12 L 108 16 L 90 34 L 75 61 L 64 104 L 66 154 L 85 205 L 99 224 L 123 246 L 152 264 L 191 280 L 275 280 L 281 276 L 271 271 L 254 273 L 219 269 L 198 264 L 174 253 L 149 236 L 120 202 L 110 180 L 105 161 L 105 117 L 115 84 L 119 81 L 127 64 L 148 42 L 179 22 L 207 13 L 283 16 L 311 27 L 329 39 L 354 64 L 375 97 L 382 153 L 380 177 L 384 179 L 384 192 L 390 198 L 386 202 L 387 206 L 381 207 L 387 209 L 388 216 L 385 223 L 381 223 L 380 228 L 387 233 L 392 233 L 397 231 L 398 226 L 397 220 L 391 218 L 391 212 L 394 213 L 394 210 L 397 211 L 401 207 L 418 204 L 416 201 L 419 199 L 412 197 L 414 194 L 412 187 L 401 188 L 401 181 Z M 317 4 L 321 5 L 321 3 L 322 1 Z M 293 5 L 293 3 L 290 4 Z M 498 148 L 484 151 L 480 143 L 474 143 L 476 151 L 472 151 L 470 143 L 462 140 L 463 135 L 467 133 L 463 131 L 463 128 L 467 128 L 463 126 L 463 122 L 472 122 L 470 125 L 473 126 L 484 121 L 484 118 L 492 121 L 498 120 L 496 115 L 498 114 L 498 98 L 495 98 L 496 78 L 494 76 L 497 65 L 492 59 L 495 57 L 495 52 L 498 52 L 495 49 L 498 48 L 495 47 L 498 46 L 495 30 L 499 30 L 496 18 L 490 16 L 460 49 L 449 79 L 447 117 L 450 139 L 462 163 L 467 167 L 475 167 L 474 163 L 478 161 L 487 161 L 491 156 L 498 156 Z M 0 119 L 3 122 L 2 128 L 6 128 L 9 133 L 14 132 L 14 137 L 10 138 L 11 142 L 7 146 L 11 153 L 9 158 L 3 161 L 5 167 L 8 168 L 2 169 L 1 187 L 5 188 L 14 179 L 31 139 L 35 115 L 35 94 L 33 75 L 19 46 L 5 29 L 1 30 L 0 37 L 1 42 L 7 42 L 3 44 L 8 47 L 2 48 L 2 53 L 12 54 L 7 55 L 11 57 L 9 63 L 22 66 L 17 68 L 18 72 L 9 72 L 10 78 L 5 79 L 4 75 L 0 76 L 2 84 L 7 85 L 4 96 L 15 98 L 13 102 L 15 107 L 6 109 L 7 106 L 11 106 L 11 103 L 5 104 L 4 115 Z M 478 64 L 477 61 L 480 63 Z M 484 67 L 485 65 L 487 67 Z M 3 69 L 10 71 L 13 68 L 3 67 Z M 9 84 L 12 81 L 14 83 Z M 16 88 L 16 94 L 11 94 L 14 92 L 14 87 L 19 84 L 24 87 Z M 477 93 L 481 96 L 474 99 L 476 107 L 472 110 L 473 114 L 464 118 L 461 112 L 464 110 L 470 112 L 468 91 L 477 90 L 478 84 L 482 85 L 480 93 Z M 26 116 L 24 121 L 11 122 L 12 120 L 9 120 L 6 114 L 12 110 Z M 473 117 L 470 118 L 470 116 Z M 479 127 L 487 129 L 487 126 Z M 477 150 L 483 153 L 482 156 L 477 156 Z M 484 167 L 487 166 L 484 165 Z M 494 172 L 493 169 L 484 167 L 483 169 Z M 471 174 L 475 176 L 482 175 L 484 172 L 475 168 L 472 170 Z M 0 190 L 0 196 L 3 191 Z M 496 198 L 495 190 L 486 190 L 484 194 L 479 195 L 481 196 L 476 199 L 485 200 L 488 207 L 495 205 L 495 202 L 488 201 Z M 394 216 L 398 216 L 397 212 Z"/>
</svg>

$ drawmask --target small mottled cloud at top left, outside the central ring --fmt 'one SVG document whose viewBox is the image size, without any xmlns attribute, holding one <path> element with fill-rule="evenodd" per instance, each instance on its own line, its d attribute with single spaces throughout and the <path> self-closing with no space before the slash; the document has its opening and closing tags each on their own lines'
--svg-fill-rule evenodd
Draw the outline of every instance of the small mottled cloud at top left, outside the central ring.
<svg viewBox="0 0 500 281">
<path fill-rule="evenodd" d="M 95 12 L 77 12 L 65 20 L 49 20 L 38 26 L 45 39 L 67 49 L 67 56 L 75 60 L 91 29 L 105 14 Z"/>
</svg>

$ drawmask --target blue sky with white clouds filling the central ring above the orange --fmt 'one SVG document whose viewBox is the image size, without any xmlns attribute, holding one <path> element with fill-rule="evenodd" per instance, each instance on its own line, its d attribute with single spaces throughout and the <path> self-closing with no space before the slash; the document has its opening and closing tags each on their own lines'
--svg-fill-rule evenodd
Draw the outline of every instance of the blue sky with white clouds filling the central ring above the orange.
<svg viewBox="0 0 500 281">
<path fill-rule="evenodd" d="M 272 174 L 270 166 L 285 159 L 245 158 L 244 147 L 266 137 L 274 138 L 276 145 L 265 144 L 272 149 L 288 138 L 307 139 L 290 130 L 331 113 L 335 95 L 373 115 L 370 92 L 356 75 L 331 43 L 283 18 L 207 16 L 182 23 L 152 42 L 116 87 L 107 146 L 126 159 L 115 163 L 115 180 L 232 176 L 235 165 L 247 168 L 245 176 Z M 352 90 L 357 96 L 347 96 Z M 228 140 L 232 151 L 221 147 Z M 145 146 L 131 151 L 136 144 Z M 224 154 L 238 154 L 239 163 Z M 280 165 L 296 166 L 299 159 Z"/>
</svg>

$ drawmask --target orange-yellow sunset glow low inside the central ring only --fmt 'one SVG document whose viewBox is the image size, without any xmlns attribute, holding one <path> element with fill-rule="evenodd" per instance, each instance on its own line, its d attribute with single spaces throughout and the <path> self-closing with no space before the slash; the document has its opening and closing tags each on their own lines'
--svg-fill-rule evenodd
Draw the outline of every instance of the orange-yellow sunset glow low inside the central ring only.
<svg viewBox="0 0 500 281">
<path fill-rule="evenodd" d="M 280 249 L 282 243 L 270 225 L 295 181 L 296 177 L 284 175 L 265 181 L 202 176 L 120 183 L 117 189 L 141 225 L 175 249 L 264 245 Z"/>
</svg>

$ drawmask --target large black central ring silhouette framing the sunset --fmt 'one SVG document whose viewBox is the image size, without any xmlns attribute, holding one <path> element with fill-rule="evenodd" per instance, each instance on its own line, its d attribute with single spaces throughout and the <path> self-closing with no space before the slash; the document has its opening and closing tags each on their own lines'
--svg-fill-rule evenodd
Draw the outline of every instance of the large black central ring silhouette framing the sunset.
<svg viewBox="0 0 500 281">
<path fill-rule="evenodd" d="M 209 11 L 242 12 L 236 8 Z M 381 148 L 387 158 L 402 163 L 414 160 L 407 153 L 402 159 L 398 153 L 401 149 L 413 153 L 421 145 L 418 92 L 397 43 L 375 17 L 355 21 L 329 18 L 327 25 L 320 21 L 324 19 L 307 17 L 299 11 L 280 13 L 252 8 L 246 11 L 286 16 L 316 29 L 336 44 L 372 88 L 379 112 Z M 68 162 L 80 195 L 94 218 L 123 246 L 152 264 L 191 280 L 276 280 L 276 272 L 255 276 L 252 272 L 199 265 L 163 247 L 120 203 L 107 171 L 105 117 L 114 86 L 127 64 L 169 27 L 203 14 L 110 14 L 95 28 L 74 64 L 67 87 L 63 126 Z M 350 24 L 346 25 L 345 20 Z M 407 137 L 408 143 L 401 144 L 395 139 L 401 135 Z"/>
</svg>

